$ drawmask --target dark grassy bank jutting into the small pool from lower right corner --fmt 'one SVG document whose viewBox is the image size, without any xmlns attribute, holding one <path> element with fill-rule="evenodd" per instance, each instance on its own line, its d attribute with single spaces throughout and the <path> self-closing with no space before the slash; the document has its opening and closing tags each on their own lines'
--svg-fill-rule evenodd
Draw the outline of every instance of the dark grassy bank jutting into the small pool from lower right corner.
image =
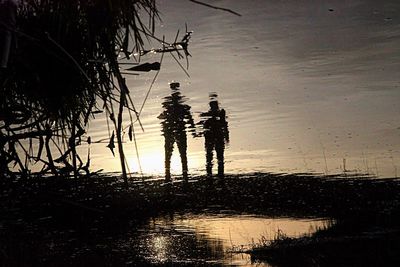
<svg viewBox="0 0 400 267">
<path fill-rule="evenodd" d="M 273 266 L 399 266 L 399 229 L 359 232 L 355 228 L 349 233 L 336 227 L 341 226 L 300 238 L 279 237 L 248 253 L 253 261 Z"/>
</svg>

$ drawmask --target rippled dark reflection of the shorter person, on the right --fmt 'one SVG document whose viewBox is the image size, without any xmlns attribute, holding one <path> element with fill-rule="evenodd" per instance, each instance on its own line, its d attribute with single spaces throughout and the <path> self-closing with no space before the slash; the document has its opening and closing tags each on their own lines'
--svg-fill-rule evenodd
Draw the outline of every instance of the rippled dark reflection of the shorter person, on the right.
<svg viewBox="0 0 400 267">
<path fill-rule="evenodd" d="M 228 122 L 224 109 L 219 108 L 217 94 L 210 94 L 210 110 L 200 114 L 206 149 L 207 175 L 212 175 L 213 150 L 217 153 L 218 176 L 224 177 L 225 143 L 229 143 Z"/>
</svg>

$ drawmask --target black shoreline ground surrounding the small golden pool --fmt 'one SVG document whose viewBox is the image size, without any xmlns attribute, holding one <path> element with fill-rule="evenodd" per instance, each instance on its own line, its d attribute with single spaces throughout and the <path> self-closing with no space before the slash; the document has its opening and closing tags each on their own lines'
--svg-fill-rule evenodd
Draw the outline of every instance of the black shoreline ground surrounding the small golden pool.
<svg viewBox="0 0 400 267">
<path fill-rule="evenodd" d="M 336 221 L 312 237 L 283 238 L 275 246 L 249 251 L 254 260 L 277 266 L 399 262 L 398 179 L 254 173 L 224 180 L 191 177 L 188 183 L 175 177 L 166 184 L 150 178 L 130 180 L 128 190 L 121 179 L 104 174 L 2 179 L 1 266 L 140 265 L 139 255 L 99 248 L 96 242 L 123 236 L 132 225 L 159 215 L 226 211 Z M 86 247 L 77 253 L 80 242 Z"/>
</svg>

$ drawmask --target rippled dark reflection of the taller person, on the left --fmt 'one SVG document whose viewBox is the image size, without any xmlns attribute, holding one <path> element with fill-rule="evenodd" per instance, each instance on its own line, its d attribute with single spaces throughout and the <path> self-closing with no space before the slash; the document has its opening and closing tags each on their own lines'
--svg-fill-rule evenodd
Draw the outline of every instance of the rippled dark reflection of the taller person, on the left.
<svg viewBox="0 0 400 267">
<path fill-rule="evenodd" d="M 171 156 L 176 142 L 181 156 L 182 175 L 185 180 L 188 178 L 187 165 L 187 138 L 186 125 L 192 129 L 194 134 L 194 121 L 190 112 L 190 106 L 184 104 L 185 97 L 179 91 L 179 83 L 170 83 L 172 93 L 164 98 L 162 106 L 164 111 L 158 116 L 162 120 L 162 131 L 165 138 L 165 180 L 171 180 Z"/>
</svg>

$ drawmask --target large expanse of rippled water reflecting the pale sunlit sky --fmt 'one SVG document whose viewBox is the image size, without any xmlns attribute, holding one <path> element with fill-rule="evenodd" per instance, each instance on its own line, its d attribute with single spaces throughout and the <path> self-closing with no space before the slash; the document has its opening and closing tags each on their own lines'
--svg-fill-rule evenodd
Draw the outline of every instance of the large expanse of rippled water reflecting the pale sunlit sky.
<svg viewBox="0 0 400 267">
<path fill-rule="evenodd" d="M 218 92 L 231 142 L 226 172 L 354 171 L 398 176 L 400 168 L 400 2 L 217 1 L 237 17 L 185 0 L 158 1 L 157 33 L 173 41 L 185 22 L 194 34 L 190 78 L 166 54 L 136 124 L 145 173 L 163 173 L 160 121 L 168 82 L 181 82 L 195 120 Z M 181 34 L 182 36 L 182 34 Z M 157 42 L 149 47 L 159 47 Z M 149 54 L 142 62 L 155 62 Z M 186 62 L 181 61 L 183 65 Z M 127 76 L 137 107 L 154 72 Z M 104 118 L 90 126 L 92 140 L 107 138 Z M 205 172 L 204 140 L 189 138 L 192 173 Z M 104 143 L 92 145 L 94 169 L 118 171 Z M 175 149 L 172 171 L 180 172 Z M 126 143 L 131 171 L 138 171 L 134 144 Z"/>
</svg>

